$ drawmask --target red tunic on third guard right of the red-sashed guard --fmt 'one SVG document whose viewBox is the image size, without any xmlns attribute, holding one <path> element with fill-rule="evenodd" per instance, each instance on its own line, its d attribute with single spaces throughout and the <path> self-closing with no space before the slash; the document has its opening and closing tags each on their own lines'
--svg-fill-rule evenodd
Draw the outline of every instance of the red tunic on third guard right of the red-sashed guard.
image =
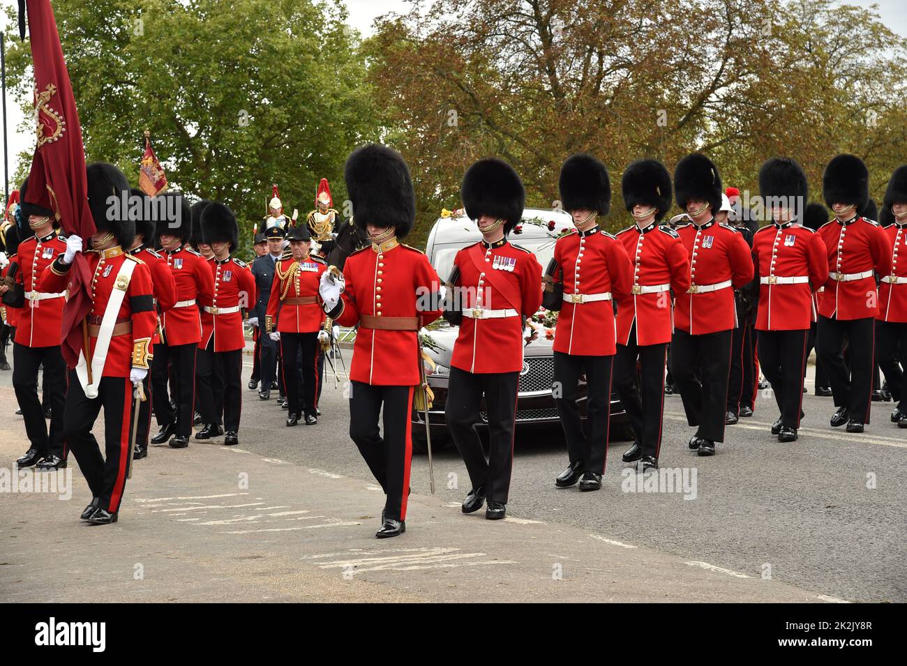
<svg viewBox="0 0 907 666">
<path fill-rule="evenodd" d="M 690 286 L 686 294 L 676 294 L 675 327 L 691 335 L 735 328 L 734 290 L 753 279 L 753 257 L 743 235 L 714 219 L 702 226 L 680 225 L 677 232 L 687 248 Z M 701 291 L 723 283 L 727 286 Z"/>
</svg>

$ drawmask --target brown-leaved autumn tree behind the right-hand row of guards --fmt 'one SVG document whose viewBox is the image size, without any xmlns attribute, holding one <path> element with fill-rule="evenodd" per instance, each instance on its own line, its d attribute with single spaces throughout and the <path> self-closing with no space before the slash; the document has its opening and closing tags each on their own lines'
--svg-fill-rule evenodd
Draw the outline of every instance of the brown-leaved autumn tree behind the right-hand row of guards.
<svg viewBox="0 0 907 666">
<path fill-rule="evenodd" d="M 388 140 L 409 161 L 420 218 L 458 205 L 463 170 L 512 162 L 551 207 L 571 152 L 610 169 L 609 224 L 628 223 L 633 159 L 673 169 L 701 150 L 756 194 L 761 162 L 800 161 L 821 198 L 839 151 L 867 161 L 873 194 L 907 154 L 904 38 L 874 10 L 831 0 L 435 0 L 382 17 L 365 44 Z"/>
</svg>

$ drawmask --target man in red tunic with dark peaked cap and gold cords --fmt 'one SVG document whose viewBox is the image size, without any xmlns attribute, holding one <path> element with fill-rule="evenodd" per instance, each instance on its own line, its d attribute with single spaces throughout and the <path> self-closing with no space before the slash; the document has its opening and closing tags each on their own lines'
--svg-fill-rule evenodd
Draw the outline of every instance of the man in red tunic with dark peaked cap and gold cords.
<svg viewBox="0 0 907 666">
<path fill-rule="evenodd" d="M 274 282 L 268 297 L 265 330 L 272 340 L 280 343 L 284 363 L 284 383 L 287 386 L 287 426 L 299 419 L 306 425 L 317 420 L 319 334 L 325 322 L 318 296 L 321 275 L 327 264 L 320 256 L 309 254 L 312 236 L 306 227 L 292 227 L 287 236 L 290 256 L 278 259 L 274 267 Z M 297 364 L 301 353 L 303 391 L 300 400 Z"/>
</svg>

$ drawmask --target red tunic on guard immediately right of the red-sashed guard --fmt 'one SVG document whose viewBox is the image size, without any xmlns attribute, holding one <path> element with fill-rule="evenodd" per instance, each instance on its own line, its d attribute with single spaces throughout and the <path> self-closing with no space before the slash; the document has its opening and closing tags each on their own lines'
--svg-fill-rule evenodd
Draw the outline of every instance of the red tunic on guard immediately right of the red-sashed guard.
<svg viewBox="0 0 907 666">
<path fill-rule="evenodd" d="M 554 351 L 579 356 L 611 356 L 617 352 L 614 302 L 629 294 L 633 265 L 623 244 L 593 227 L 561 236 L 554 244 L 564 300 L 554 330 Z M 560 280 L 559 280 L 560 281 Z M 574 295 L 579 294 L 579 295 Z M 610 294 L 608 300 L 575 303 L 583 295 Z"/>
</svg>

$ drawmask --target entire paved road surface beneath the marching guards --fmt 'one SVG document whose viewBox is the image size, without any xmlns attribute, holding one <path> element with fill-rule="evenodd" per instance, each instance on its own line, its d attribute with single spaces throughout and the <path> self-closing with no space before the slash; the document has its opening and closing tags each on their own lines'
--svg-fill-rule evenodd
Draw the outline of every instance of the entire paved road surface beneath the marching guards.
<svg viewBox="0 0 907 666">
<path fill-rule="evenodd" d="M 0 468 L 26 448 L 14 402 L 2 372 Z M 767 432 L 769 402 L 698 458 L 679 398 L 666 398 L 660 464 L 686 475 L 682 492 L 629 488 L 626 442 L 613 443 L 601 491 L 557 489 L 560 431 L 519 431 L 503 524 L 460 514 L 469 483 L 455 449 L 435 453 L 436 497 L 416 456 L 407 534 L 378 542 L 380 489 L 347 437 L 342 387 L 327 382 L 316 426 L 288 429 L 244 385 L 239 447 L 151 449 L 117 526 L 73 518 L 86 493 L 74 464 L 73 502 L 0 497 L 0 599 L 907 601 L 907 439 L 891 404 L 848 436 L 827 424 L 832 401 L 808 395 L 801 439 L 783 445 Z M 238 474 L 258 484 L 237 490 Z M 552 566 L 568 572 L 562 584 Z M 63 582 L 48 591 L 54 574 Z"/>
</svg>

